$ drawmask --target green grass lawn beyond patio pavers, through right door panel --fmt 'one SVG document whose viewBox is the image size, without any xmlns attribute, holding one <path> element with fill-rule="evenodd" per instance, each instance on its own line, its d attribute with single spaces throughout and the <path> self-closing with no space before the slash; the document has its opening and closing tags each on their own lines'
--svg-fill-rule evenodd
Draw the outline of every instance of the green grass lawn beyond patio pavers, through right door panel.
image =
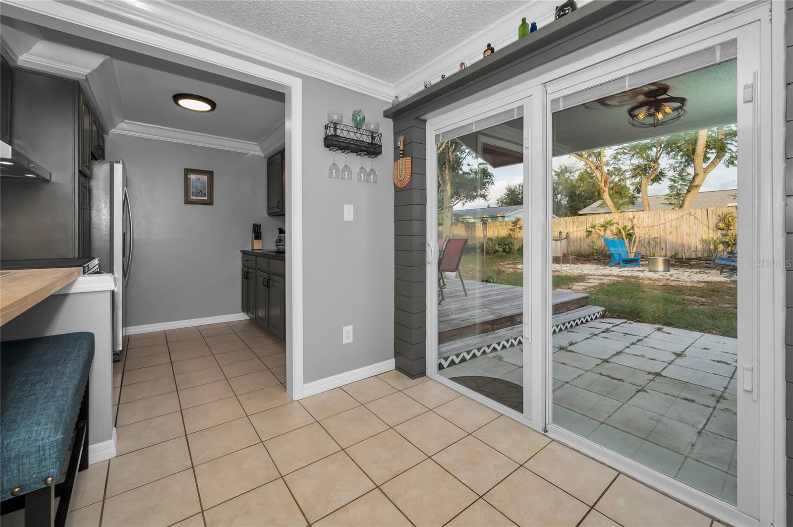
<svg viewBox="0 0 793 527">
<path fill-rule="evenodd" d="M 606 316 L 737 337 L 737 286 L 702 283 L 661 285 L 622 280 L 588 291 L 589 303 Z"/>
</svg>

